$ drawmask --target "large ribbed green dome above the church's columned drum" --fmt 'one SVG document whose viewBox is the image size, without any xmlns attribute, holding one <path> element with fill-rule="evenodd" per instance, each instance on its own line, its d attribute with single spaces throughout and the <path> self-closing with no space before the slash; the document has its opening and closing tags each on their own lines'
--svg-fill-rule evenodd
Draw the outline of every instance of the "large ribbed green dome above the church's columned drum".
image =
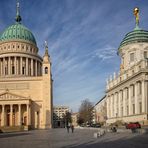
<svg viewBox="0 0 148 148">
<path fill-rule="evenodd" d="M 36 45 L 36 40 L 31 31 L 23 26 L 21 23 L 16 22 L 14 25 L 9 26 L 0 34 L 0 41 L 9 41 L 14 39 L 26 40 Z"/>
</svg>

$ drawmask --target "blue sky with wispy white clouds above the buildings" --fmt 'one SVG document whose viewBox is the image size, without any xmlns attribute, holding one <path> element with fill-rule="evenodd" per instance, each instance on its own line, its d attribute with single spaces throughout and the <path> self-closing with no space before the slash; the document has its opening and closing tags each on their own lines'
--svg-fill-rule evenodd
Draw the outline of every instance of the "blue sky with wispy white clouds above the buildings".
<svg viewBox="0 0 148 148">
<path fill-rule="evenodd" d="M 97 103 L 106 79 L 119 71 L 118 47 L 135 27 L 148 30 L 147 0 L 19 0 L 22 24 L 34 34 L 39 54 L 48 42 L 53 103 L 77 112 L 81 101 Z M 16 0 L 0 0 L 0 32 L 15 23 Z"/>
</svg>

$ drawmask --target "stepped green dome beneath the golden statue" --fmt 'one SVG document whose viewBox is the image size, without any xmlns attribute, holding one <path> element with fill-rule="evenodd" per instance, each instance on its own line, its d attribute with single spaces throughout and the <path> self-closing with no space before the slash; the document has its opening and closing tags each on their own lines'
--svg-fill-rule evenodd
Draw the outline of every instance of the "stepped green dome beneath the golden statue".
<svg viewBox="0 0 148 148">
<path fill-rule="evenodd" d="M 147 42 L 148 31 L 136 27 L 133 31 L 126 34 L 123 41 L 120 43 L 119 49 L 131 43 Z"/>
</svg>

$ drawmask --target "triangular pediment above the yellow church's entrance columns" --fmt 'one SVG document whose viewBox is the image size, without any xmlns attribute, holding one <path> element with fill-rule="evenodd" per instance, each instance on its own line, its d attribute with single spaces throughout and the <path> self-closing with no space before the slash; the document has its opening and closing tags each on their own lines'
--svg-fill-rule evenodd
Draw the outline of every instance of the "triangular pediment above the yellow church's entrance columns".
<svg viewBox="0 0 148 148">
<path fill-rule="evenodd" d="M 10 93 L 8 91 L 0 94 L 0 100 L 21 100 L 21 99 L 28 99 L 27 97 L 16 95 L 13 93 Z"/>
</svg>

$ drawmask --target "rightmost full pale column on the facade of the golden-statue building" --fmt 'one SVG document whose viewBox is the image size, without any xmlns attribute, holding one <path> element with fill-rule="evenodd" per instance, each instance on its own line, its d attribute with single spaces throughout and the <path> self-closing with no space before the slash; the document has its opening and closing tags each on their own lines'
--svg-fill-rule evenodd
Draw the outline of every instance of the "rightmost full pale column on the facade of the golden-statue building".
<svg viewBox="0 0 148 148">
<path fill-rule="evenodd" d="M 145 81 L 142 80 L 142 113 L 145 113 L 145 112 L 146 112 L 145 93 L 146 93 L 146 89 L 145 89 Z"/>
</svg>

